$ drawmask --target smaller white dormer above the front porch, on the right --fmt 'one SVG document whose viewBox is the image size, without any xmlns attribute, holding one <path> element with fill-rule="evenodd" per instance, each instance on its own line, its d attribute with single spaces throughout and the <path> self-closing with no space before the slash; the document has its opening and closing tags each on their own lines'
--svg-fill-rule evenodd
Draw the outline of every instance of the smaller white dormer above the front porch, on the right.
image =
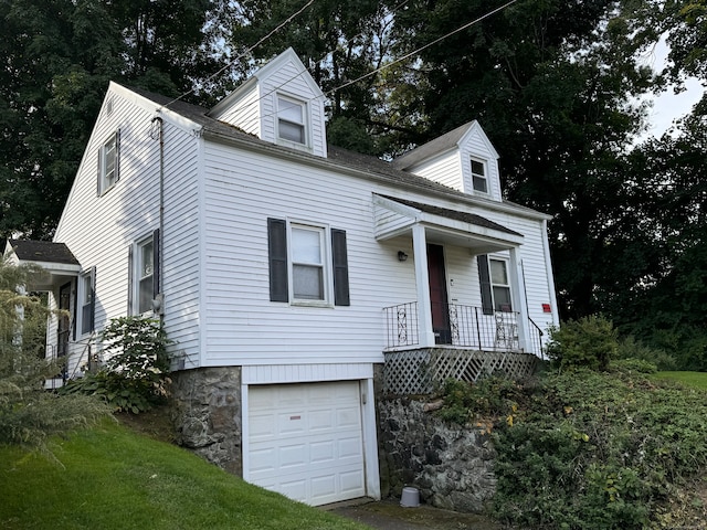
<svg viewBox="0 0 707 530">
<path fill-rule="evenodd" d="M 476 120 L 407 152 L 393 166 L 469 195 L 502 200 L 498 152 Z"/>
</svg>

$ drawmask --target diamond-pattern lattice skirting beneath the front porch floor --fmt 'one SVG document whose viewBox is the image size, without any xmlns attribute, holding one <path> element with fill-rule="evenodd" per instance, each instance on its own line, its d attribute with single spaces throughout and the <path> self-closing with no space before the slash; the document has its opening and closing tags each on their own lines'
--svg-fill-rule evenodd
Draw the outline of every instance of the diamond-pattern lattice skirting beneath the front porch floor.
<svg viewBox="0 0 707 530">
<path fill-rule="evenodd" d="M 429 348 L 386 353 L 383 391 L 397 395 L 432 393 L 447 379 L 474 382 L 504 372 L 514 379 L 531 375 L 538 358 L 530 353 Z"/>
</svg>

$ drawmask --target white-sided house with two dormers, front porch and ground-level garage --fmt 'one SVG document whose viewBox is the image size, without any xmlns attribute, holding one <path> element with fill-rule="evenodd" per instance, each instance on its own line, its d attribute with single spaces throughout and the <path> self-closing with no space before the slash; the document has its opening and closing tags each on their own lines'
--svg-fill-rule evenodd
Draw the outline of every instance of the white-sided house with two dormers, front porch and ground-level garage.
<svg viewBox="0 0 707 530">
<path fill-rule="evenodd" d="M 202 454 L 313 505 L 378 498 L 379 377 L 474 379 L 558 324 L 550 218 L 503 199 L 497 159 L 476 121 L 392 163 L 327 146 L 291 49 L 212 109 L 112 83 L 55 243 L 8 250 L 72 314 L 49 329 L 68 377 L 110 318 L 159 315 Z"/>
</svg>

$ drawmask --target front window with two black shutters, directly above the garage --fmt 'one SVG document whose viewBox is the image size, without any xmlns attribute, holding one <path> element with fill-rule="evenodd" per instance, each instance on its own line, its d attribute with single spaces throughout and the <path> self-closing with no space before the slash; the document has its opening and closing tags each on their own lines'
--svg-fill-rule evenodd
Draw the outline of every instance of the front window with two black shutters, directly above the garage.
<svg viewBox="0 0 707 530">
<path fill-rule="evenodd" d="M 268 219 L 267 233 L 271 301 L 350 305 L 345 231 Z"/>
</svg>

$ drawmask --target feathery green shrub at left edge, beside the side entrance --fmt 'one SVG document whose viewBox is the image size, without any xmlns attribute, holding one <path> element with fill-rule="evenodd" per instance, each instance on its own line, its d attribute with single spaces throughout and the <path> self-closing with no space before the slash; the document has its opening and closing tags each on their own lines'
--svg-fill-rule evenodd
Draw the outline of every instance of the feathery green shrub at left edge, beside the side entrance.
<svg viewBox="0 0 707 530">
<path fill-rule="evenodd" d="M 0 444 L 48 449 L 48 437 L 108 413 L 87 396 L 59 396 L 44 380 L 61 367 L 44 358 L 48 311 L 19 287 L 41 271 L 0 262 Z"/>
</svg>

